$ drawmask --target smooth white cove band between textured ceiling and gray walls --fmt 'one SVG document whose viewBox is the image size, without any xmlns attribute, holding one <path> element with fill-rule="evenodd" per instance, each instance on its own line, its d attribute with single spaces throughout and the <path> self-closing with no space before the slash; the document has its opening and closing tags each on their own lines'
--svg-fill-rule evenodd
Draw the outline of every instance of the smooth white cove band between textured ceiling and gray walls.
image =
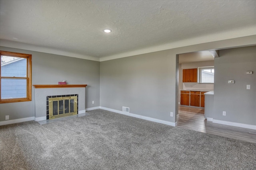
<svg viewBox="0 0 256 170">
<path fill-rule="evenodd" d="M 169 42 L 169 43 L 156 45 L 156 46 L 152 46 L 152 47 L 146 47 L 144 49 L 133 50 L 133 51 L 119 53 L 119 54 L 115 54 L 115 55 L 108 55 L 108 56 L 104 56 L 101 58 L 88 56 L 88 55 L 82 55 L 82 54 L 78 54 L 78 53 L 71 53 L 68 51 L 60 51 L 60 50 L 49 48 L 49 47 L 40 47 L 37 45 L 20 43 L 17 41 L 3 40 L 3 39 L 1 39 L 1 41 L 0 41 L 0 46 L 16 48 L 16 49 L 24 49 L 24 50 L 30 50 L 30 51 L 38 51 L 38 52 L 42 52 L 42 53 L 50 53 L 50 54 L 56 54 L 56 55 L 64 55 L 64 56 L 68 56 L 68 57 L 76 57 L 76 58 L 80 58 L 80 59 L 101 62 L 101 61 L 119 59 L 119 58 L 123 58 L 123 57 L 134 56 L 134 55 L 152 53 L 152 52 L 156 52 L 156 51 L 163 51 L 163 50 L 174 49 L 174 48 L 179 48 L 179 47 L 186 47 L 186 46 L 190 46 L 190 45 L 209 43 L 209 42 L 214 42 L 214 41 L 222 41 L 222 40 L 226 40 L 226 39 L 234 39 L 234 38 L 247 37 L 247 36 L 254 36 L 255 34 L 256 34 L 255 25 L 252 25 L 250 27 L 229 29 L 228 31 L 222 31 L 222 32 L 218 32 L 218 33 L 214 33 L 214 34 L 210 34 L 210 35 L 197 36 L 197 37 L 193 37 L 190 39 L 184 39 L 184 40 Z"/>
</svg>

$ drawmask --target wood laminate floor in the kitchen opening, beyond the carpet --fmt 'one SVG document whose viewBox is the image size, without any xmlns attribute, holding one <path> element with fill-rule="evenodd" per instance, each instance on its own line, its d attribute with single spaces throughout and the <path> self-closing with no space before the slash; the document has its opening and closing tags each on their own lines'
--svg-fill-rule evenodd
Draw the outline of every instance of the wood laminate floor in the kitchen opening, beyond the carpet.
<svg viewBox="0 0 256 170">
<path fill-rule="evenodd" d="M 256 143 L 256 130 L 212 123 L 204 119 L 204 109 L 179 106 L 178 126 L 185 129 Z"/>
</svg>

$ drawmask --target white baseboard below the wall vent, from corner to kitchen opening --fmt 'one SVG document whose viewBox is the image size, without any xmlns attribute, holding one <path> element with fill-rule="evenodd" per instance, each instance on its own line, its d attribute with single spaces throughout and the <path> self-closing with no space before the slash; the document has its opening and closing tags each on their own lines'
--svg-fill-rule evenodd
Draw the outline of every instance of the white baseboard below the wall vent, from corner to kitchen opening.
<svg viewBox="0 0 256 170">
<path fill-rule="evenodd" d="M 174 123 L 174 122 L 170 122 L 170 121 L 164 121 L 164 120 L 155 119 L 155 118 L 152 118 L 152 117 L 146 117 L 146 116 L 136 115 L 136 114 L 133 114 L 133 113 L 128 113 L 128 112 L 124 112 L 124 111 L 120 111 L 120 110 L 110 109 L 110 108 L 107 108 L 107 107 L 101 107 L 100 106 L 100 109 L 112 111 L 112 112 L 115 112 L 115 113 L 120 113 L 120 114 L 131 116 L 131 117 L 136 117 L 136 118 L 139 118 L 139 119 L 154 121 L 154 122 L 162 123 L 162 124 L 165 124 L 165 125 L 177 126 L 177 122 Z"/>
</svg>

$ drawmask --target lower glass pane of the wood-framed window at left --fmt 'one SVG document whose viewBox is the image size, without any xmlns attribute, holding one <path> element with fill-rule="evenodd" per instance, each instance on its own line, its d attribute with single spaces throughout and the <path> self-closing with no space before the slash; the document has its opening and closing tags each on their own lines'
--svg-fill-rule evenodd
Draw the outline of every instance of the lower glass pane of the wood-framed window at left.
<svg viewBox="0 0 256 170">
<path fill-rule="evenodd" d="M 1 79 L 1 99 L 26 98 L 26 79 Z"/>
</svg>

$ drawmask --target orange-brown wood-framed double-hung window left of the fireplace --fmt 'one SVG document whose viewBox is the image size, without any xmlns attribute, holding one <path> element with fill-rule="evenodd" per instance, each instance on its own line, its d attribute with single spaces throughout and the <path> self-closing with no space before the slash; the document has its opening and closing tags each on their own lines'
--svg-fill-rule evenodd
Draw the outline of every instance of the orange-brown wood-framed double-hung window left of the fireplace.
<svg viewBox="0 0 256 170">
<path fill-rule="evenodd" d="M 0 103 L 31 101 L 32 55 L 7 51 L 0 54 Z"/>
</svg>

